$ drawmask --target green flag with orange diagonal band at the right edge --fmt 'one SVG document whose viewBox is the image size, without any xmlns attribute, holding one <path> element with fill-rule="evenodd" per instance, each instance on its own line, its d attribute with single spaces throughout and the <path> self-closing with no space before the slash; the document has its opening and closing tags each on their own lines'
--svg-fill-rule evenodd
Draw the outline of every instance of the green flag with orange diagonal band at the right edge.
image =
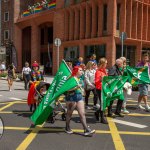
<svg viewBox="0 0 150 150">
<path fill-rule="evenodd" d="M 129 67 L 127 66 L 129 82 L 132 85 L 150 84 L 148 67 Z"/>
</svg>

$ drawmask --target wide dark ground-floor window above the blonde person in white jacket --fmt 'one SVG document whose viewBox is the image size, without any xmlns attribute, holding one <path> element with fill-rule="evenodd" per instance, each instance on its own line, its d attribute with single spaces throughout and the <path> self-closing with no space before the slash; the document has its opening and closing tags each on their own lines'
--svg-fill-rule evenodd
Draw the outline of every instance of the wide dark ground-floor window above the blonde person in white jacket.
<svg viewBox="0 0 150 150">
<path fill-rule="evenodd" d="M 85 46 L 85 63 L 87 63 L 92 54 L 96 54 L 96 60 L 106 57 L 106 45 L 88 45 Z"/>
</svg>

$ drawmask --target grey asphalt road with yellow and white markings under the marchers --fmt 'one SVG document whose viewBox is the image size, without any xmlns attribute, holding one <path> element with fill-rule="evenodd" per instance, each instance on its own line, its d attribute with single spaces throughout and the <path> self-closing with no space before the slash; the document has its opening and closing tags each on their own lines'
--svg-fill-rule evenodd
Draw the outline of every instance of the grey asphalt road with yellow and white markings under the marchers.
<svg viewBox="0 0 150 150">
<path fill-rule="evenodd" d="M 108 125 L 95 120 L 94 110 L 86 110 L 88 125 L 96 129 L 93 137 L 83 136 L 82 125 L 76 112 L 71 120 L 71 128 L 74 131 L 72 135 L 64 132 L 65 121 L 62 121 L 61 113 L 55 117 L 54 124 L 46 122 L 42 126 L 34 127 L 29 119 L 32 114 L 26 104 L 27 94 L 22 82 L 14 82 L 13 91 L 9 92 L 7 82 L 0 80 L 0 117 L 4 123 L 0 150 L 150 149 L 150 112 L 136 109 L 137 92 L 128 97 L 127 108 L 130 114 L 124 118 L 107 118 Z M 92 96 L 90 102 L 92 105 Z M 65 103 L 62 104 L 65 106 Z"/>
</svg>

